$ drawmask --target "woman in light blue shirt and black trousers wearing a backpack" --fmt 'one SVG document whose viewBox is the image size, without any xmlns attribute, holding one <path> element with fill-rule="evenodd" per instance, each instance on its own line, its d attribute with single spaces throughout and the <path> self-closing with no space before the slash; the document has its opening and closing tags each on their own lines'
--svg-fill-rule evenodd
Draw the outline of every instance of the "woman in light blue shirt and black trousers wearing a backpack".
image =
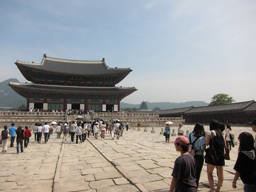
<svg viewBox="0 0 256 192">
<path fill-rule="evenodd" d="M 204 126 L 201 123 L 197 123 L 192 133 L 187 136 L 189 143 L 192 145 L 194 150 L 194 158 L 196 161 L 196 185 L 197 191 L 202 191 L 199 186 L 200 174 L 204 165 L 204 150 L 205 150 L 205 133 Z"/>
</svg>

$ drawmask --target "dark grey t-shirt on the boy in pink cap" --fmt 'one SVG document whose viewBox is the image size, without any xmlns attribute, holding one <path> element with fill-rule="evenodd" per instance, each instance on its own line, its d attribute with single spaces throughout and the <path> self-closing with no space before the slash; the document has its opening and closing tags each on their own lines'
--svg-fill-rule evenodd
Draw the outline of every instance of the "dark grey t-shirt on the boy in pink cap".
<svg viewBox="0 0 256 192">
<path fill-rule="evenodd" d="M 172 176 L 178 179 L 176 192 L 196 192 L 196 162 L 191 154 L 181 155 L 175 160 Z"/>
</svg>

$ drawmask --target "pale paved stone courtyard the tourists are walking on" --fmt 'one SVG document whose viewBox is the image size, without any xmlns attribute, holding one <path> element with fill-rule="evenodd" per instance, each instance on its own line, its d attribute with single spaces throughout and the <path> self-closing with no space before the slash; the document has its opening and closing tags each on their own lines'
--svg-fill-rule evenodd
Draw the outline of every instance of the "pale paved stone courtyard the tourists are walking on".
<svg viewBox="0 0 256 192">
<path fill-rule="evenodd" d="M 191 132 L 193 128 L 194 125 L 184 126 L 185 132 Z M 204 128 L 209 130 L 209 126 Z M 255 136 L 250 127 L 232 128 L 235 140 L 244 131 Z M 82 144 L 72 143 L 70 137 L 68 142 L 62 143 L 55 133 L 47 144 L 38 144 L 32 136 L 28 148 L 19 154 L 16 154 L 16 147 L 9 147 L 9 142 L 7 153 L 0 153 L 0 190 L 168 192 L 174 162 L 180 153 L 176 152 L 173 143 L 165 142 L 165 137 L 159 134 L 161 128 L 155 128 L 156 133 L 150 133 L 150 130 L 148 128 L 148 132 L 144 132 L 143 127 L 140 132 L 124 130 L 124 136 L 114 141 L 110 134 L 98 140 L 90 136 Z M 171 136 L 170 140 L 175 138 Z M 235 146 L 230 152 L 231 160 L 225 162 L 222 191 L 243 191 L 241 180 L 238 180 L 236 189 L 232 188 L 237 154 L 238 146 Z M 217 180 L 216 170 L 214 180 Z M 209 190 L 207 185 L 204 164 L 200 177 L 203 192 Z"/>
</svg>

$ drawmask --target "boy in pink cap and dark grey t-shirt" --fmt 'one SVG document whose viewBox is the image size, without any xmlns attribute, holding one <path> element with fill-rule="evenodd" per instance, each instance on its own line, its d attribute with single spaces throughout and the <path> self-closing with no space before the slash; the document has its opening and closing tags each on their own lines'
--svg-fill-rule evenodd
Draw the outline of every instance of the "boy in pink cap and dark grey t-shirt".
<svg viewBox="0 0 256 192">
<path fill-rule="evenodd" d="M 196 192 L 196 162 L 188 152 L 189 140 L 181 136 L 176 138 L 174 145 L 181 155 L 175 160 L 169 192 L 174 188 L 175 192 Z"/>
</svg>

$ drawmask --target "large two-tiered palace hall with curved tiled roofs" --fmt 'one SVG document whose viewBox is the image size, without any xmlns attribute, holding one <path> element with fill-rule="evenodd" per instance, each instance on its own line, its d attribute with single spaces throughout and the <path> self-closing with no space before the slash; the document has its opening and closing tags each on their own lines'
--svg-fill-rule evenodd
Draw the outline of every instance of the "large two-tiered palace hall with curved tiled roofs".
<svg viewBox="0 0 256 192">
<path fill-rule="evenodd" d="M 27 99 L 27 108 L 45 110 L 83 109 L 95 112 L 120 110 L 120 101 L 137 89 L 116 87 L 132 70 L 110 68 L 100 61 L 47 57 L 41 63 L 16 61 L 26 80 L 8 85 Z"/>
</svg>

